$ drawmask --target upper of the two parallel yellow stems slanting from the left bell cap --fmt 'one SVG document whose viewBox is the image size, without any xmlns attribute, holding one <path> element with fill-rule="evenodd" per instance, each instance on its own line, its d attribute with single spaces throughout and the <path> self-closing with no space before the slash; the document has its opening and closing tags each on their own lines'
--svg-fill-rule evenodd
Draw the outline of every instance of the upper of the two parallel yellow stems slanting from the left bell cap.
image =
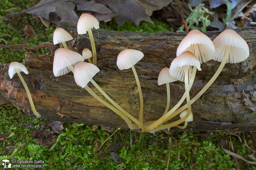
<svg viewBox="0 0 256 170">
<path fill-rule="evenodd" d="M 114 100 L 112 100 L 107 93 L 105 93 L 101 88 L 100 86 L 93 80 L 91 79 L 90 80 L 91 83 L 100 91 L 101 94 L 103 94 L 103 96 L 105 96 L 108 101 L 110 101 L 110 103 L 112 105 L 114 105 L 118 110 L 120 110 L 121 112 L 124 113 L 124 115 L 126 115 L 127 117 L 129 117 L 133 122 L 135 122 L 143 131 L 143 125 L 141 122 L 139 122 L 137 119 L 135 119 L 132 115 L 130 115 L 128 112 L 126 112 L 122 107 L 120 107 Z"/>
</svg>

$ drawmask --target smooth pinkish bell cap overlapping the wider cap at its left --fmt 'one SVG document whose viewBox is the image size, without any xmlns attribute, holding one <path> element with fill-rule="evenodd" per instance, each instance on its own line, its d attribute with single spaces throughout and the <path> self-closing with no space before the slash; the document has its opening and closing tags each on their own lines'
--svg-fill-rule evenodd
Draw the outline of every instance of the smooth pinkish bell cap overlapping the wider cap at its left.
<svg viewBox="0 0 256 170">
<path fill-rule="evenodd" d="M 100 69 L 94 64 L 77 62 L 73 70 L 76 84 L 84 88 L 99 71 Z"/>
</svg>

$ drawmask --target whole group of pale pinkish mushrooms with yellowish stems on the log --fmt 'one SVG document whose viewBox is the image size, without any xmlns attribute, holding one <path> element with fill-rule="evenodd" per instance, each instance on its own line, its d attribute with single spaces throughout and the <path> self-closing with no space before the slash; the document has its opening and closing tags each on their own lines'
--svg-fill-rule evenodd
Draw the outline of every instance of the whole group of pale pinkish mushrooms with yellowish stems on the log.
<svg viewBox="0 0 256 170">
<path fill-rule="evenodd" d="M 166 84 L 167 88 L 167 104 L 162 117 L 156 121 L 145 122 L 143 124 L 142 91 L 134 65 L 143 58 L 144 54 L 141 51 L 135 49 L 124 49 L 118 54 L 116 62 L 116 65 L 120 70 L 132 68 L 134 73 L 140 96 L 140 114 L 139 120 L 137 120 L 127 111 L 125 111 L 121 106 L 119 106 L 114 100 L 112 100 L 108 94 L 106 94 L 92 79 L 100 71 L 100 69 L 96 66 L 96 49 L 91 30 L 93 27 L 98 29 L 99 21 L 90 14 L 82 14 L 77 23 L 77 33 L 84 34 L 88 31 L 92 45 L 92 52 L 88 48 L 85 48 L 82 52 L 82 55 L 68 49 L 65 41 L 72 40 L 73 37 L 64 29 L 56 28 L 53 35 L 53 43 L 62 43 L 64 48 L 59 48 L 54 53 L 53 74 L 55 77 L 58 77 L 72 71 L 77 85 L 84 88 L 95 99 L 100 101 L 117 115 L 121 116 L 125 122 L 127 122 L 130 129 L 141 129 L 142 132 L 154 133 L 158 130 L 169 129 L 173 126 L 176 126 L 180 129 L 186 128 L 187 122 L 193 121 L 191 104 L 194 103 L 210 87 L 210 85 L 220 74 L 225 63 L 239 63 L 244 61 L 249 56 L 249 47 L 246 41 L 244 41 L 244 39 L 234 30 L 227 29 L 223 31 L 213 41 L 211 41 L 209 37 L 207 37 L 204 33 L 201 33 L 199 30 L 190 31 L 187 36 L 180 42 L 176 52 L 177 57 L 172 61 L 170 68 L 163 68 L 158 76 L 158 85 Z M 90 59 L 91 57 L 92 61 Z M 84 62 L 85 59 L 88 59 L 89 63 Z M 198 92 L 198 94 L 196 94 L 193 99 L 190 100 L 189 90 L 193 85 L 196 76 L 196 70 L 201 70 L 200 65 L 209 60 L 215 60 L 221 62 L 221 64 L 216 73 L 203 87 L 203 89 Z M 25 81 L 20 75 L 20 71 L 28 74 L 28 70 L 24 65 L 17 62 L 12 62 L 10 64 L 8 71 L 10 78 L 12 78 L 15 73 L 18 74 L 28 94 L 28 99 L 32 111 L 37 117 L 40 117 L 41 115 L 35 109 L 32 97 L 29 93 Z M 171 110 L 169 110 L 169 83 L 177 80 L 185 82 L 185 92 L 180 101 Z M 92 89 L 87 85 L 89 81 L 113 106 L 101 99 L 92 91 Z M 185 99 L 187 104 L 180 107 Z M 178 114 L 180 114 L 179 120 L 172 123 L 163 124 Z M 179 124 L 182 122 L 185 122 L 184 125 L 179 126 Z"/>
</svg>

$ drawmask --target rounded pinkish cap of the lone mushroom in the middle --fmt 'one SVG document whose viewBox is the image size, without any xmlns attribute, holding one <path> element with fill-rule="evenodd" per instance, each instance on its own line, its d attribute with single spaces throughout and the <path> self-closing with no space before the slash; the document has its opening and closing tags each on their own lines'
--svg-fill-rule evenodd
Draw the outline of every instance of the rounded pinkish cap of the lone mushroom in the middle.
<svg viewBox="0 0 256 170">
<path fill-rule="evenodd" d="M 118 54 L 116 65 L 120 70 L 130 69 L 138 61 L 140 61 L 143 56 L 144 54 L 139 50 L 124 49 Z"/>
</svg>

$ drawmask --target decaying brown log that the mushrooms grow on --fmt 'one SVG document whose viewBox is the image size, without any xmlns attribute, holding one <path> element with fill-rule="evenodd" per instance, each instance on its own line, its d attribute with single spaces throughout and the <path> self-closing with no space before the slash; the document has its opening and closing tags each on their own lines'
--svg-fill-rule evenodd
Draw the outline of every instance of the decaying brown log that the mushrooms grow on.
<svg viewBox="0 0 256 170">
<path fill-rule="evenodd" d="M 78 35 L 74 23 L 62 21 L 59 25 L 74 38 L 68 47 L 82 52 L 90 47 L 88 34 Z M 256 28 L 241 28 L 236 32 L 248 43 L 250 56 L 242 63 L 226 64 L 220 76 L 204 95 L 192 105 L 194 121 L 185 130 L 213 130 L 241 132 L 256 130 Z M 212 40 L 220 32 L 206 32 Z M 157 85 L 157 77 L 163 67 L 169 67 L 176 57 L 176 49 L 186 33 L 117 32 L 105 29 L 93 30 L 100 72 L 93 78 L 121 107 L 138 118 L 140 100 L 132 70 L 118 70 L 116 57 L 125 48 L 140 50 L 144 58 L 135 65 L 144 99 L 146 121 L 158 119 L 166 106 L 166 86 Z M 75 84 L 72 73 L 54 77 L 52 55 L 26 53 L 23 64 L 28 75 L 22 74 L 28 84 L 37 111 L 44 119 L 76 122 L 92 125 L 126 128 L 127 124 L 110 109 L 95 100 L 88 92 Z M 199 92 L 217 70 L 219 62 L 210 61 L 197 71 L 191 98 Z M 0 91 L 13 105 L 34 116 L 24 87 L 15 75 L 8 76 L 8 64 L 0 64 Z M 92 84 L 88 84 L 100 97 Z M 184 83 L 170 83 L 173 107 L 183 95 Z M 103 98 L 104 99 L 104 98 Z M 106 100 L 106 99 L 104 99 Z M 107 101 L 107 100 L 106 100 Z M 185 102 L 183 103 L 185 104 Z M 60 118 L 61 117 L 61 118 Z M 176 116 L 172 120 L 178 120 Z M 181 130 L 172 128 L 172 130 Z"/>
</svg>

